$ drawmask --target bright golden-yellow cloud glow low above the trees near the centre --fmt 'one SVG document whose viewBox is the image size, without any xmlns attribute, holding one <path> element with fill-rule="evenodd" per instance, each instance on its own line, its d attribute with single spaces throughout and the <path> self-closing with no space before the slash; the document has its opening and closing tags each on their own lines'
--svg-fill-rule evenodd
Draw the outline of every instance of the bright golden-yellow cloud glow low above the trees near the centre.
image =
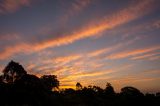
<svg viewBox="0 0 160 106">
<path fill-rule="evenodd" d="M 75 88 L 75 84 L 76 82 L 80 82 L 81 84 L 83 84 L 83 86 L 87 86 L 91 83 L 96 82 L 97 80 L 108 80 L 111 78 L 111 76 L 103 76 L 103 75 L 107 75 L 110 74 L 114 71 L 112 70 L 103 70 L 103 71 L 99 71 L 99 72 L 82 72 L 79 74 L 73 74 L 70 76 L 66 76 L 66 77 L 62 77 L 60 78 L 60 82 L 62 82 L 63 84 L 61 85 L 62 87 L 69 87 L 72 86 L 71 88 Z M 92 80 L 90 79 L 90 77 L 94 77 Z M 66 87 L 65 87 L 66 88 Z"/>
</svg>

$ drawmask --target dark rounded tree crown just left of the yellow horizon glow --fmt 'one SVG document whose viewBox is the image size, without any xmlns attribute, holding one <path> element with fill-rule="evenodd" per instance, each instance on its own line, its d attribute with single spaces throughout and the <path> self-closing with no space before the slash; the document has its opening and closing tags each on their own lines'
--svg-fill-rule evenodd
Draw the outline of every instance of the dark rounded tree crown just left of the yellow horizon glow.
<svg viewBox="0 0 160 106">
<path fill-rule="evenodd" d="M 56 75 L 43 75 L 40 79 L 48 90 L 52 90 L 52 88 L 59 88 L 59 81 L 57 80 Z"/>
</svg>

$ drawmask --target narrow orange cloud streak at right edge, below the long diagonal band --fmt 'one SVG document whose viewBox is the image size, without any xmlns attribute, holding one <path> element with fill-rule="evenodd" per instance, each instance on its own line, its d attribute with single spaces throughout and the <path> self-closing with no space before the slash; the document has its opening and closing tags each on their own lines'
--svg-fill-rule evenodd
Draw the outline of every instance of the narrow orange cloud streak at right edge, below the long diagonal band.
<svg viewBox="0 0 160 106">
<path fill-rule="evenodd" d="M 115 53 L 107 56 L 107 59 L 121 59 L 121 58 L 127 58 L 130 56 L 135 56 L 135 55 L 140 55 L 144 54 L 147 52 L 152 52 L 155 50 L 160 49 L 160 46 L 155 46 L 155 47 L 150 47 L 150 48 L 145 48 L 145 49 L 137 49 L 137 50 L 132 50 L 132 51 L 124 51 L 120 53 Z"/>
</svg>

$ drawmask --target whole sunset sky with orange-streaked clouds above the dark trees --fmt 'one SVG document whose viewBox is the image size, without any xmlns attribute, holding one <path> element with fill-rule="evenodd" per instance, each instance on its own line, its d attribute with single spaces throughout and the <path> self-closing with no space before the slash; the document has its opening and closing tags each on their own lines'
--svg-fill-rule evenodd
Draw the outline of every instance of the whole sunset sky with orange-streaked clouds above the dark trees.
<svg viewBox="0 0 160 106">
<path fill-rule="evenodd" d="M 160 0 L 0 0 L 0 70 L 160 91 Z"/>
</svg>

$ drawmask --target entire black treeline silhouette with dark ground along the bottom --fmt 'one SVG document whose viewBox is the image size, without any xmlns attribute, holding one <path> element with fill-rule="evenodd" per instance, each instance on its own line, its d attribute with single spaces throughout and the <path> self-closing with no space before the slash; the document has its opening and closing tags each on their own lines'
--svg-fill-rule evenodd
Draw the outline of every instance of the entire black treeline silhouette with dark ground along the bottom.
<svg viewBox="0 0 160 106">
<path fill-rule="evenodd" d="M 120 93 L 110 83 L 98 86 L 59 90 L 55 75 L 38 78 L 11 61 L 0 76 L 0 106 L 160 106 L 160 93 L 143 94 L 134 87 L 123 87 Z M 57 90 L 53 90 L 57 89 Z"/>
</svg>

